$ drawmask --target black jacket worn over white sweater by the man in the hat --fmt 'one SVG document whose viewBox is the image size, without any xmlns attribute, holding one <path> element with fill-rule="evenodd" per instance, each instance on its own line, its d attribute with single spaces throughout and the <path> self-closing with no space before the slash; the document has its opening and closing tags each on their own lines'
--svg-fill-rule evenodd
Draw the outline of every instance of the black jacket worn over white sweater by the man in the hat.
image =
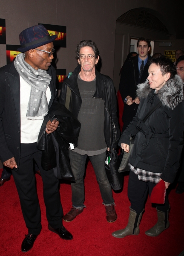
<svg viewBox="0 0 184 256">
<path fill-rule="evenodd" d="M 57 102 L 56 71 L 51 66 L 47 72 L 52 76 L 49 84 L 51 91 L 50 108 L 53 102 Z M 0 68 L 0 159 L 1 162 L 4 162 L 11 157 L 15 158 L 19 167 L 20 76 L 14 67 L 14 63 Z M 15 170 L 17 171 L 17 169 Z"/>
</svg>

